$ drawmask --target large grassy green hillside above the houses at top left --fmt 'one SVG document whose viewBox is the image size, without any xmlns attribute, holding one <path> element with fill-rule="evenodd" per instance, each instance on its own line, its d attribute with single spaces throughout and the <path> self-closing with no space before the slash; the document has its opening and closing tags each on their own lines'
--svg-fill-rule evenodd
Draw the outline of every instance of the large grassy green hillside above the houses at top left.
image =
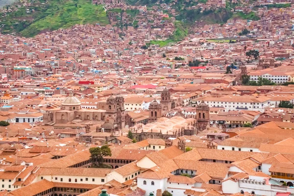
<svg viewBox="0 0 294 196">
<path fill-rule="evenodd" d="M 49 0 L 45 5 L 39 3 L 32 8 L 36 11 L 26 13 L 22 7 L 8 15 L 4 19 L 2 32 L 33 37 L 42 31 L 69 28 L 76 24 L 109 24 L 103 6 L 94 5 L 90 0 Z M 14 28 L 7 28 L 10 25 Z"/>
</svg>

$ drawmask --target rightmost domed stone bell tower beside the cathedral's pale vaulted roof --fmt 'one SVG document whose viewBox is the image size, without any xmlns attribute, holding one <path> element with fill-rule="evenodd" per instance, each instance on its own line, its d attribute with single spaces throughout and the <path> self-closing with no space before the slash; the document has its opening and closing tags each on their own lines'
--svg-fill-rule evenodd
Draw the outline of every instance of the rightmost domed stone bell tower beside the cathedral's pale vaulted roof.
<svg viewBox="0 0 294 196">
<path fill-rule="evenodd" d="M 196 106 L 196 119 L 199 131 L 206 129 L 209 125 L 209 106 L 203 100 Z"/>
</svg>

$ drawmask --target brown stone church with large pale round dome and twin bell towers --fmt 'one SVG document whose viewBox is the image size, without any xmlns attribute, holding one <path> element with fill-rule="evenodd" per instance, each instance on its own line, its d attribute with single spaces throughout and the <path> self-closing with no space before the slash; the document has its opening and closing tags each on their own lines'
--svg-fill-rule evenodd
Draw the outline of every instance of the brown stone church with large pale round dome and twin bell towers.
<svg viewBox="0 0 294 196">
<path fill-rule="evenodd" d="M 98 102 L 98 109 L 83 109 L 78 98 L 71 92 L 58 108 L 49 109 L 44 116 L 44 124 L 86 123 L 89 121 L 111 124 L 116 129 L 125 126 L 124 99 L 122 95 L 110 96 L 106 102 Z M 102 125 L 103 126 L 103 125 Z M 108 129 L 107 129 L 108 130 Z"/>
</svg>

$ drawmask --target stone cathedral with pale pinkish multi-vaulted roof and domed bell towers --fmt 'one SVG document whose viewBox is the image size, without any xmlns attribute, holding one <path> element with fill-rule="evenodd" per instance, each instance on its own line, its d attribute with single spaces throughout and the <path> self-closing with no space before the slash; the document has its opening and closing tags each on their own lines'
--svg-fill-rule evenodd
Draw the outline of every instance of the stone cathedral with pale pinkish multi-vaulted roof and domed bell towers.
<svg viewBox="0 0 294 196">
<path fill-rule="evenodd" d="M 172 110 L 174 107 L 168 89 L 162 92 L 160 100 L 160 103 L 155 99 L 150 103 L 147 124 L 139 123 L 130 127 L 137 141 L 196 135 L 209 125 L 209 106 L 204 101 L 196 104 L 195 118 L 185 118 L 181 110 Z"/>
</svg>

